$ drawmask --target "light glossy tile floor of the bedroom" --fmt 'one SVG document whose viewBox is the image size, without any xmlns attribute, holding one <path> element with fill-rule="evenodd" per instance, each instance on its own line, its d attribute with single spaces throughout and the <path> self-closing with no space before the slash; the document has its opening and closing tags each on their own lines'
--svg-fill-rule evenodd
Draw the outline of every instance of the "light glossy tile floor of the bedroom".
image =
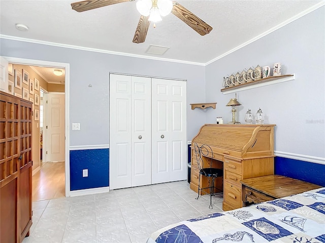
<svg viewBox="0 0 325 243">
<path fill-rule="evenodd" d="M 222 194 L 200 196 L 187 181 L 34 201 L 30 236 L 23 243 L 139 242 L 158 228 L 222 212 Z"/>
</svg>

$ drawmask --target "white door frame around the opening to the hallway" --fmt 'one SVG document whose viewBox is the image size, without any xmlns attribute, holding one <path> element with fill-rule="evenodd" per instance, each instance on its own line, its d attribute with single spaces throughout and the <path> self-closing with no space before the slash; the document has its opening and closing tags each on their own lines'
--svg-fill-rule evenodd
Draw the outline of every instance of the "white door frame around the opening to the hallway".
<svg viewBox="0 0 325 243">
<path fill-rule="evenodd" d="M 64 84 L 64 93 L 65 95 L 65 134 L 66 134 L 66 142 L 64 145 L 65 148 L 65 178 L 66 178 L 66 196 L 70 196 L 70 157 L 69 157 L 69 144 L 70 144 L 70 128 L 69 128 L 69 94 L 70 94 L 70 64 L 62 63 L 62 62 L 49 62 L 49 61 L 41 61 L 41 60 L 33 60 L 33 59 L 25 59 L 25 58 L 16 58 L 16 57 L 4 57 L 8 60 L 8 62 L 14 64 L 21 65 L 34 65 L 34 66 L 48 66 L 48 67 L 58 67 L 65 69 L 65 84 Z"/>
</svg>

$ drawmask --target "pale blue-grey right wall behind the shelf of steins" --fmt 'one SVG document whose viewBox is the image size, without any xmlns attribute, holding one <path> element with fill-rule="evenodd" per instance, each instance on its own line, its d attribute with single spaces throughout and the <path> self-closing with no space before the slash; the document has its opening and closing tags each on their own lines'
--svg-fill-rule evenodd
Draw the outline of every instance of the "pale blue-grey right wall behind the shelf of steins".
<svg viewBox="0 0 325 243">
<path fill-rule="evenodd" d="M 237 93 L 239 121 L 248 109 L 261 107 L 266 124 L 276 124 L 275 150 L 325 157 L 325 7 L 287 24 L 206 67 L 206 100 L 218 102 L 207 113 L 207 123 L 223 116 L 232 119 L 225 105 L 235 94 L 220 92 L 223 76 L 250 66 L 282 63 L 282 74 L 296 80 Z M 253 26 L 252 26 L 253 27 Z"/>
</svg>

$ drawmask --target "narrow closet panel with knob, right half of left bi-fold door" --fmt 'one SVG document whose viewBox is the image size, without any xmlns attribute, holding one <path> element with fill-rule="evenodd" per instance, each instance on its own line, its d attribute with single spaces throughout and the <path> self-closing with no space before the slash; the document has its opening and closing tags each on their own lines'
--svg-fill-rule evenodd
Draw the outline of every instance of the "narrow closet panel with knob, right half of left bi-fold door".
<svg viewBox="0 0 325 243">
<path fill-rule="evenodd" d="M 132 76 L 131 186 L 151 184 L 151 78 Z"/>
</svg>

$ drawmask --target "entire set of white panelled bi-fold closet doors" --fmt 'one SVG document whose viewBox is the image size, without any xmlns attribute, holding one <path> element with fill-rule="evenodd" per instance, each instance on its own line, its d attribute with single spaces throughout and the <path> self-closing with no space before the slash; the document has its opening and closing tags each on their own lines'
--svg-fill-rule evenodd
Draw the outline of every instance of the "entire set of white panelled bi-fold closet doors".
<svg viewBox="0 0 325 243">
<path fill-rule="evenodd" d="M 110 74 L 110 189 L 187 178 L 186 82 Z"/>
</svg>

